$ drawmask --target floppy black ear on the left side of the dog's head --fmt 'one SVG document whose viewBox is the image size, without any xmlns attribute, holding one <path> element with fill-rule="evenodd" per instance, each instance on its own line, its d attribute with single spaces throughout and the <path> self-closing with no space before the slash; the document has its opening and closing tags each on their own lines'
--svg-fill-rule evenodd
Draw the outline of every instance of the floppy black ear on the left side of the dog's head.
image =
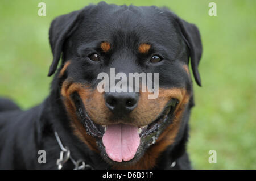
<svg viewBox="0 0 256 181">
<path fill-rule="evenodd" d="M 75 30 L 80 12 L 81 10 L 73 11 L 69 14 L 61 15 L 52 21 L 49 29 L 49 41 L 52 49 L 53 61 L 49 68 L 48 76 L 55 73 L 63 50 L 64 41 L 71 35 L 72 31 Z"/>
</svg>

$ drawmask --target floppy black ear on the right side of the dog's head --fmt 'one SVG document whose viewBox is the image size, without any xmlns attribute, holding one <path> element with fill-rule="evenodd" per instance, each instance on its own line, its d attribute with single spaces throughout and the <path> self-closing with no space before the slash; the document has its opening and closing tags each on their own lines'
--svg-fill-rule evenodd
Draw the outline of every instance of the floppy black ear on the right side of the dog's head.
<svg viewBox="0 0 256 181">
<path fill-rule="evenodd" d="M 201 59 L 203 49 L 199 30 L 197 29 L 195 24 L 188 23 L 178 17 L 176 18 L 176 20 L 177 23 L 179 23 L 181 32 L 190 51 L 189 56 L 191 57 L 191 66 L 196 83 L 197 85 L 201 86 L 201 78 L 198 71 L 198 65 Z"/>
</svg>

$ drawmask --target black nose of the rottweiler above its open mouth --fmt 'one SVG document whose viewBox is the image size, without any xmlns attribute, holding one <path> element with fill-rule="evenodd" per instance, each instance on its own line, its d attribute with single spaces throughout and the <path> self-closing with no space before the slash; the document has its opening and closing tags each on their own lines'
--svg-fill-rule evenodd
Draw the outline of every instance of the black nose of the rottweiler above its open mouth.
<svg viewBox="0 0 256 181">
<path fill-rule="evenodd" d="M 125 115 L 137 106 L 139 95 L 136 92 L 105 92 L 106 106 L 115 115 Z"/>
</svg>

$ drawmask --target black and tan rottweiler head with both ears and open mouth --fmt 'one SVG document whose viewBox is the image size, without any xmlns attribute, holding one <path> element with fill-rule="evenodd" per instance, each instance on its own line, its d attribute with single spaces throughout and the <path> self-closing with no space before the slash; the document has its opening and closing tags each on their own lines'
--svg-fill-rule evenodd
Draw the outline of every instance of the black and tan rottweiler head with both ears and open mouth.
<svg viewBox="0 0 256 181">
<path fill-rule="evenodd" d="M 154 166 L 174 143 L 192 98 L 189 58 L 201 86 L 196 26 L 155 6 L 101 2 L 53 20 L 49 39 L 53 62 L 48 75 L 62 55 L 55 78 L 73 134 L 115 167 Z M 104 82 L 104 91 L 98 90 L 101 73 L 110 81 Z M 123 89 L 134 79 L 130 73 L 146 76 L 158 94 L 143 90 L 141 82 L 138 91 L 134 84 Z M 122 90 L 116 89 L 118 83 Z"/>
</svg>

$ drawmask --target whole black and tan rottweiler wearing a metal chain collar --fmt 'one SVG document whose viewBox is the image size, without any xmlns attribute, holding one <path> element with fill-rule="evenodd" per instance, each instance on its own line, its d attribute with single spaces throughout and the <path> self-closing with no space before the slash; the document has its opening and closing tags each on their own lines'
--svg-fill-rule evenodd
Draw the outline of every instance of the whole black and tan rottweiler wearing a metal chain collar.
<svg viewBox="0 0 256 181">
<path fill-rule="evenodd" d="M 54 19 L 49 42 L 48 98 L 27 111 L 0 100 L 1 169 L 191 169 L 188 64 L 201 86 L 202 53 L 194 24 L 166 8 L 100 2 Z M 158 73 L 158 97 L 98 91 L 111 68 Z"/>
</svg>

